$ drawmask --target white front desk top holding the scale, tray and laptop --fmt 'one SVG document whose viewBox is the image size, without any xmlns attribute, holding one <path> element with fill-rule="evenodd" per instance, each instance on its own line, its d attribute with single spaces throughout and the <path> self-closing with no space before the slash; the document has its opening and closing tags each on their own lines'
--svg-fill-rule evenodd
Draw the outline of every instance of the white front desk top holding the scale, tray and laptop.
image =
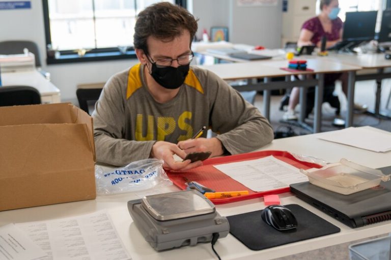
<svg viewBox="0 0 391 260">
<path fill-rule="evenodd" d="M 277 139 L 271 144 L 263 147 L 261 150 L 286 150 L 291 153 L 315 156 L 329 162 L 336 162 L 341 158 L 347 158 L 371 168 L 380 168 L 390 165 L 391 152 L 376 153 L 347 145 L 332 143 L 318 139 L 318 135 L 320 134 Z M 161 189 L 160 191 L 168 192 L 176 190 L 178 190 L 177 187 L 171 186 Z M 127 201 L 138 198 L 139 197 L 136 196 L 135 193 L 125 193 L 112 196 L 98 196 L 96 200 L 90 201 L 2 211 L 0 212 L 0 225 L 12 222 L 45 221 L 49 219 L 72 217 L 106 209 L 113 219 L 114 225 L 126 249 L 134 260 L 216 259 L 210 243 L 156 252 L 144 240 L 130 218 L 127 209 Z M 299 200 L 290 192 L 280 194 L 280 198 L 283 205 L 301 205 L 332 224 L 337 225 L 341 229 L 341 232 L 260 251 L 249 250 L 229 234 L 228 237 L 219 239 L 215 245 L 215 249 L 222 259 L 273 259 L 391 232 L 391 221 L 384 221 L 357 229 L 351 229 L 311 205 Z M 221 215 L 230 216 L 260 210 L 264 207 L 263 198 L 259 198 L 217 205 L 216 209 Z M 262 220 L 260 219 L 259 221 Z M 265 239 L 267 239 L 267 234 L 265 234 Z M 346 250 L 348 250 L 348 248 L 346 248 Z"/>
</svg>

